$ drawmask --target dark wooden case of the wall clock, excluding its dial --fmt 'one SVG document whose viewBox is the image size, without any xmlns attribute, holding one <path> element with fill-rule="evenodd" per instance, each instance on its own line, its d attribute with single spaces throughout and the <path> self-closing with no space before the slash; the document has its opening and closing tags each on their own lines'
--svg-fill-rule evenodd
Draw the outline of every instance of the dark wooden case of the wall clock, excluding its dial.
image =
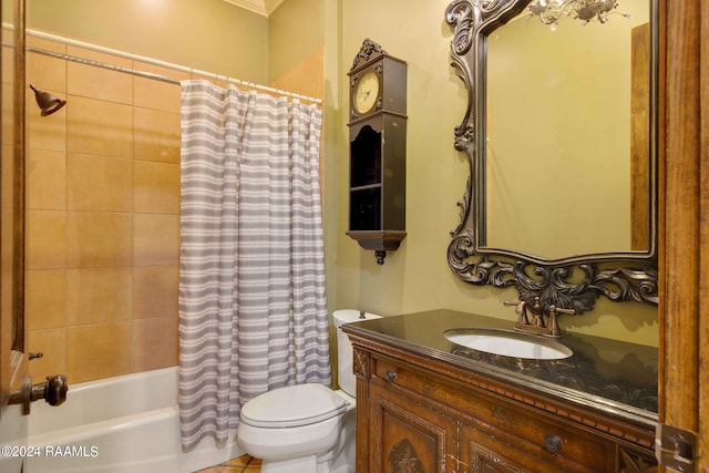
<svg viewBox="0 0 709 473">
<path fill-rule="evenodd" d="M 354 109 L 358 81 L 379 78 L 379 96 L 369 111 Z M 407 63 L 364 40 L 350 76 L 350 187 L 347 235 L 382 265 L 405 232 Z"/>
</svg>

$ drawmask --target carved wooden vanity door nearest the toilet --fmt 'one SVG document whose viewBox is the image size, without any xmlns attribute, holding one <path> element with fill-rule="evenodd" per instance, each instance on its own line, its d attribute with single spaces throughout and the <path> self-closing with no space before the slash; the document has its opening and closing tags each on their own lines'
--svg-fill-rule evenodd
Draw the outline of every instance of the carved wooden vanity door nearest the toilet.
<svg viewBox="0 0 709 473">
<path fill-rule="evenodd" d="M 453 419 L 376 382 L 370 385 L 370 472 L 458 471 Z"/>
</svg>

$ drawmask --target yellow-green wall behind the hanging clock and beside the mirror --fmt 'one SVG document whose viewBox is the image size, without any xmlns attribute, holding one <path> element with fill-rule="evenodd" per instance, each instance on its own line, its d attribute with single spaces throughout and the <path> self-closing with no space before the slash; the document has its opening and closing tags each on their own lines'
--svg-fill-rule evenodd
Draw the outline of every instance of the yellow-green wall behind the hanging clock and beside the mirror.
<svg viewBox="0 0 709 473">
<path fill-rule="evenodd" d="M 409 64 L 407 144 L 407 232 L 397 251 L 378 266 L 371 251 L 345 235 L 348 212 L 347 103 L 337 128 L 336 308 L 384 316 L 449 308 L 508 319 L 500 290 L 459 281 L 446 264 L 449 232 L 459 223 L 455 203 L 463 196 L 466 162 L 453 148 L 453 127 L 464 113 L 462 82 L 449 65 L 451 30 L 444 21 L 449 0 L 345 0 L 341 6 L 341 66 L 346 78 L 364 38 Z M 619 18 L 619 17 L 618 17 Z M 616 20 L 614 18 L 614 20 Z M 328 78 L 326 78 L 328 79 Z M 340 79 L 340 99 L 348 96 Z M 342 100 L 342 99 L 341 99 Z M 592 312 L 562 318 L 563 329 L 657 345 L 657 309 L 636 302 L 599 300 Z"/>
</svg>

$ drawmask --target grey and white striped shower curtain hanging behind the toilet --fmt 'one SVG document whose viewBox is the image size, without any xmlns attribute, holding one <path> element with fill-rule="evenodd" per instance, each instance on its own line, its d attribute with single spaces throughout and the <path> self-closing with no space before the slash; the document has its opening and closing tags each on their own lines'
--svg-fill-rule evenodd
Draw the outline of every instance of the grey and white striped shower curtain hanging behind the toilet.
<svg viewBox="0 0 709 473">
<path fill-rule="evenodd" d="M 182 83 L 179 418 L 184 450 L 225 442 L 274 388 L 330 384 L 321 111 Z"/>
</svg>

